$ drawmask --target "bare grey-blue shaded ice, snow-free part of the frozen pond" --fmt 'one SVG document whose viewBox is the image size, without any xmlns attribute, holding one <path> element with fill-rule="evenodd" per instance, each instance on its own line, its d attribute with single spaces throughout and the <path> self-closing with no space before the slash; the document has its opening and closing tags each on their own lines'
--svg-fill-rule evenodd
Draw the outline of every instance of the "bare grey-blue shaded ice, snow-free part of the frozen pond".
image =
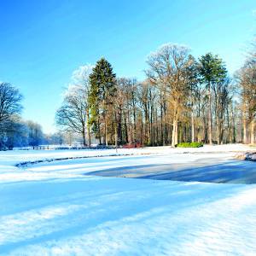
<svg viewBox="0 0 256 256">
<path fill-rule="evenodd" d="M 110 177 L 140 177 L 159 180 L 198 181 L 209 183 L 256 183 L 256 166 L 252 162 L 230 160 L 207 166 L 176 166 L 151 164 L 125 166 L 93 172 L 93 175 Z"/>
</svg>

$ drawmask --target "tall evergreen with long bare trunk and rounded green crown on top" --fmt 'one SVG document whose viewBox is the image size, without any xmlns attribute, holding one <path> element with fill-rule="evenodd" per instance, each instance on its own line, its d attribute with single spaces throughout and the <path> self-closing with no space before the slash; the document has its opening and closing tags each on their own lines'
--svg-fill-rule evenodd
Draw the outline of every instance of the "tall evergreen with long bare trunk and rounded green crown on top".
<svg viewBox="0 0 256 256">
<path fill-rule="evenodd" d="M 218 84 L 226 77 L 226 68 L 218 55 L 207 53 L 199 58 L 201 81 L 207 84 L 208 90 L 208 133 L 209 143 L 212 144 L 212 85 Z"/>
</svg>

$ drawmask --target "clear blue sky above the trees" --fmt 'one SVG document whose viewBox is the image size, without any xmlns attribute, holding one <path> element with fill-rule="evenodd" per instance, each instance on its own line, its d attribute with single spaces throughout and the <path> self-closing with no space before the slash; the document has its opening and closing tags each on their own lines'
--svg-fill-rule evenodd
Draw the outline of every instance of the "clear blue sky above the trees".
<svg viewBox="0 0 256 256">
<path fill-rule="evenodd" d="M 24 95 L 25 119 L 54 131 L 73 71 L 102 56 L 117 76 L 143 79 L 147 55 L 172 42 L 220 55 L 233 73 L 255 34 L 255 9 L 255 0 L 0 0 L 0 81 Z"/>
</svg>

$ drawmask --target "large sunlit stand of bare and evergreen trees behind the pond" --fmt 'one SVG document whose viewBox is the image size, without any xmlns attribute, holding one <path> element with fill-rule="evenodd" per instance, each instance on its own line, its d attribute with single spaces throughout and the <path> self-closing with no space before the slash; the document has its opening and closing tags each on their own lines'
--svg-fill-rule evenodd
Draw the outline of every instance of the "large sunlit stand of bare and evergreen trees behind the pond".
<svg viewBox="0 0 256 256">
<path fill-rule="evenodd" d="M 255 46 L 235 78 L 212 53 L 195 59 L 166 44 L 148 56 L 146 79 L 117 78 L 104 58 L 80 67 L 56 123 L 83 143 L 254 143 Z"/>
</svg>

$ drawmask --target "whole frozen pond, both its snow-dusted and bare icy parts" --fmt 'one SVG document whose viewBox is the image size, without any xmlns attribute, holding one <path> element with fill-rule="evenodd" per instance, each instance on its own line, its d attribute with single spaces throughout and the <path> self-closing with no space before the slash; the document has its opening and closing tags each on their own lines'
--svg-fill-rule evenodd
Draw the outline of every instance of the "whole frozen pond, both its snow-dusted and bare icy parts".
<svg viewBox="0 0 256 256">
<path fill-rule="evenodd" d="M 153 154 L 61 160 L 30 166 L 34 172 L 73 170 L 84 175 L 209 183 L 256 183 L 256 163 L 230 153 Z M 57 168 L 57 169 L 56 169 Z"/>
</svg>

